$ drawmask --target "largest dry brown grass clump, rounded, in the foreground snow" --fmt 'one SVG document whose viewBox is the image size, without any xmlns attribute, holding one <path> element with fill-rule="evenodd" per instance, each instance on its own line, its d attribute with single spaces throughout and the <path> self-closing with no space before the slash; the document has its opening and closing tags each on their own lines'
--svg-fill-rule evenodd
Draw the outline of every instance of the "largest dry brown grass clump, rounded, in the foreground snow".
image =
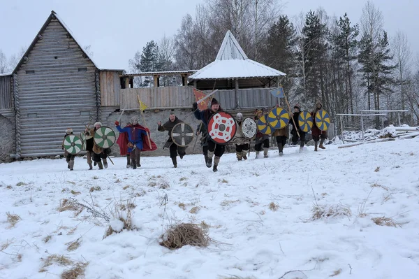
<svg viewBox="0 0 419 279">
<path fill-rule="evenodd" d="M 207 247 L 210 241 L 210 236 L 197 224 L 181 223 L 168 228 L 161 236 L 160 245 L 169 249 L 178 249 L 185 245 Z"/>
</svg>

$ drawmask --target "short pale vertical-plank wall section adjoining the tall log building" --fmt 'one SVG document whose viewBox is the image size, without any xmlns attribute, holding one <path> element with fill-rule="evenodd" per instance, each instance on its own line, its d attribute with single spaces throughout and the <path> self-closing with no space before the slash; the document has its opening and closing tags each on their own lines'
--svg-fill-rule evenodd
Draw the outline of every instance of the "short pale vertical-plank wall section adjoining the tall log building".
<svg viewBox="0 0 419 279">
<path fill-rule="evenodd" d="M 121 91 L 119 73 L 116 71 L 101 71 L 99 80 L 101 83 L 101 106 L 119 106 Z"/>
</svg>

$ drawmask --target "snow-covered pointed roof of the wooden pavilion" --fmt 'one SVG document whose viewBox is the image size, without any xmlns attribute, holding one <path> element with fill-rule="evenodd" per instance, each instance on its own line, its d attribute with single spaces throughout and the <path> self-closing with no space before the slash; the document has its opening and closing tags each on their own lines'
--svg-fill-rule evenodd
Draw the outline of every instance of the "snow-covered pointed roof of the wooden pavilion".
<svg viewBox="0 0 419 279">
<path fill-rule="evenodd" d="M 286 76 L 286 73 L 272 69 L 247 57 L 239 43 L 227 31 L 214 62 L 208 64 L 193 75 L 191 80 L 227 79 L 227 78 L 266 78 Z"/>
</svg>

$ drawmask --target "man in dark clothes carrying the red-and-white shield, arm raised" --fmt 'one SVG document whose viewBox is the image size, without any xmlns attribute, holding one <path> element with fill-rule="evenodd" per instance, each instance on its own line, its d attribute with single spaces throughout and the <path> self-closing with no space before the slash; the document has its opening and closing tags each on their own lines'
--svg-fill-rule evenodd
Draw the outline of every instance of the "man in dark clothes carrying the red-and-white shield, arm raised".
<svg viewBox="0 0 419 279">
<path fill-rule="evenodd" d="M 196 119 L 203 120 L 205 125 L 205 130 L 208 131 L 208 122 L 210 121 L 212 115 L 219 113 L 223 109 L 221 108 L 218 101 L 215 98 L 212 98 L 211 101 L 211 108 L 207 108 L 206 110 L 198 110 L 198 103 L 193 103 L 193 115 L 195 115 Z M 223 156 L 225 145 L 216 144 L 214 141 L 210 139 L 210 136 L 207 135 L 206 142 L 208 145 L 208 156 L 207 156 L 207 167 L 210 168 L 212 166 L 212 157 L 214 157 L 214 166 L 212 171 L 218 171 L 217 167 L 220 163 L 221 156 Z"/>
</svg>

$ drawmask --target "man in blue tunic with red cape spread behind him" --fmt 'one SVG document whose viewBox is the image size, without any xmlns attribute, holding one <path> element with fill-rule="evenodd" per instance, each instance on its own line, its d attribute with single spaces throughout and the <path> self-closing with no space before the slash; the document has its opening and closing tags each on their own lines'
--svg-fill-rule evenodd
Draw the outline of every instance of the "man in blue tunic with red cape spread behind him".
<svg viewBox="0 0 419 279">
<path fill-rule="evenodd" d="M 137 167 L 141 166 L 141 150 L 143 149 L 142 137 L 147 136 L 149 129 L 138 124 L 138 118 L 135 116 L 131 118 L 131 123 L 131 126 L 121 128 L 121 126 L 119 126 L 119 122 L 115 121 L 115 125 L 119 133 L 126 132 L 128 134 L 128 152 L 131 155 L 133 169 L 137 169 Z"/>
</svg>

